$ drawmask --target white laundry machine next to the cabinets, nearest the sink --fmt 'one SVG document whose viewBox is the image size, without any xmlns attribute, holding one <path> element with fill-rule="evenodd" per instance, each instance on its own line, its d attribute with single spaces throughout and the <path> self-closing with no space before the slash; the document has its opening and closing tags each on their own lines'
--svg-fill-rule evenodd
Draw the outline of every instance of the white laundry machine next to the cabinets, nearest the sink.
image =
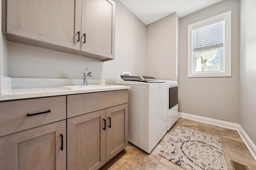
<svg viewBox="0 0 256 170">
<path fill-rule="evenodd" d="M 128 90 L 128 141 L 150 153 L 166 134 L 167 83 L 120 76 L 116 84 L 131 87 Z"/>
</svg>

